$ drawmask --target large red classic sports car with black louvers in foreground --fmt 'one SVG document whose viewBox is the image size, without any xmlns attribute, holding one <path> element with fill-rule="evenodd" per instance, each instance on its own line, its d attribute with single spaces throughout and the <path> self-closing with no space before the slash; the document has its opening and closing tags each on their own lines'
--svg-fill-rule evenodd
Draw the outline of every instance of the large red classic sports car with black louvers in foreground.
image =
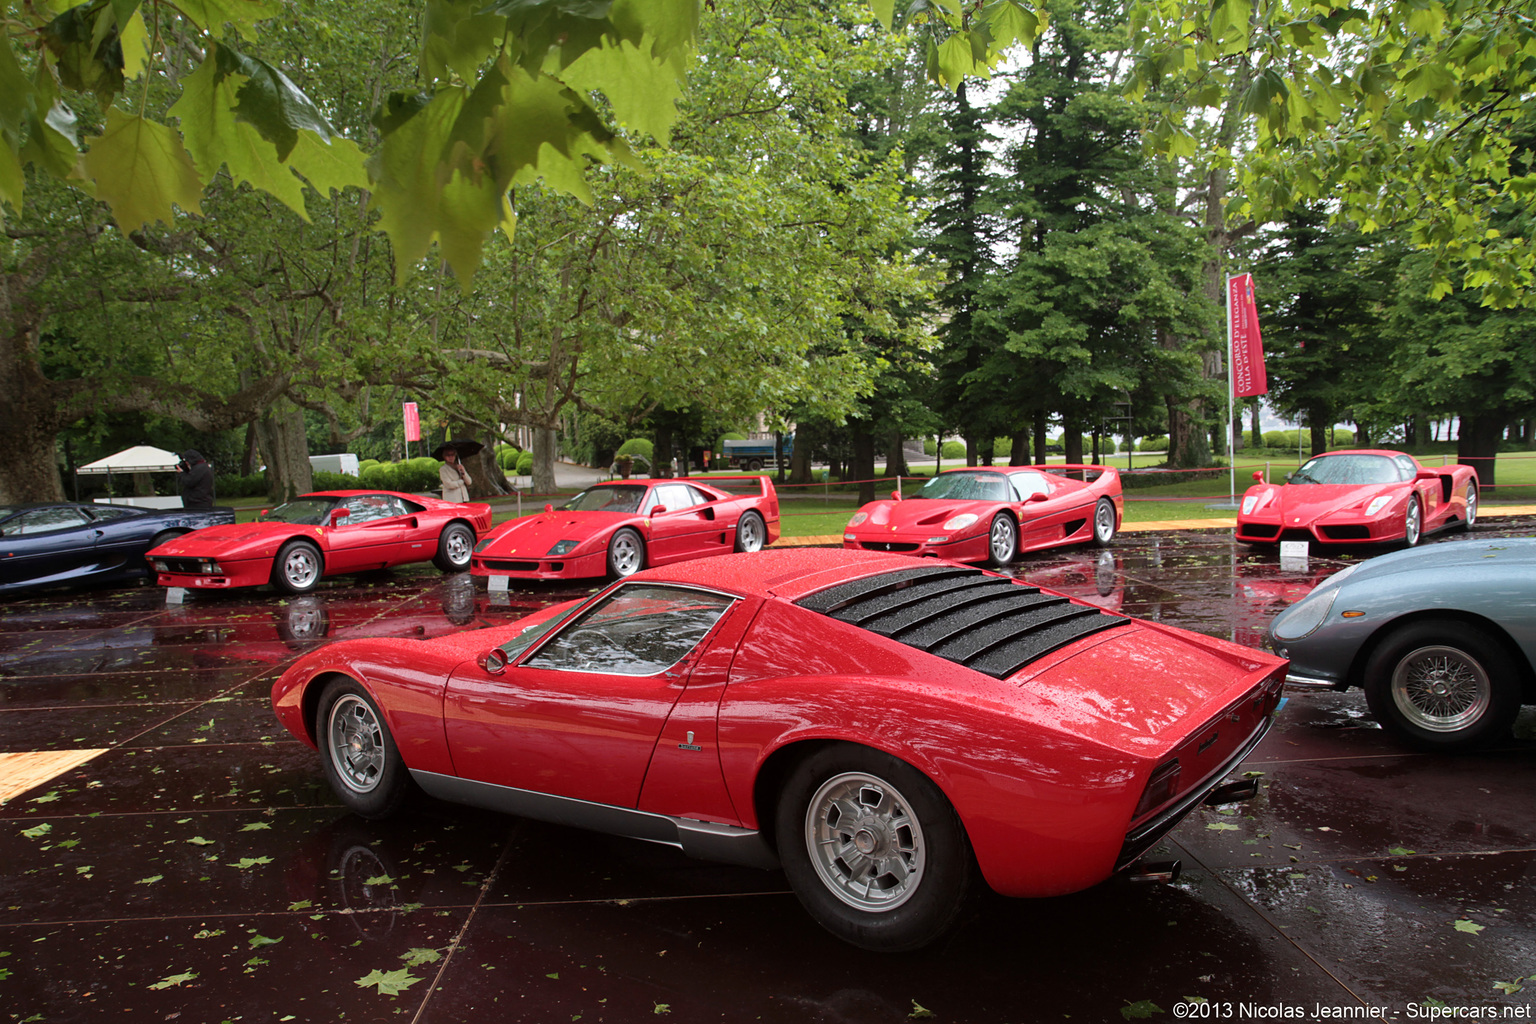
<svg viewBox="0 0 1536 1024">
<path fill-rule="evenodd" d="M 977 878 L 1084 889 L 1201 801 L 1252 795 L 1221 783 L 1284 674 L 978 568 L 790 548 L 507 626 L 330 643 L 272 705 L 362 817 L 419 788 L 782 866 L 828 930 L 903 950 L 946 932 Z"/>
</svg>

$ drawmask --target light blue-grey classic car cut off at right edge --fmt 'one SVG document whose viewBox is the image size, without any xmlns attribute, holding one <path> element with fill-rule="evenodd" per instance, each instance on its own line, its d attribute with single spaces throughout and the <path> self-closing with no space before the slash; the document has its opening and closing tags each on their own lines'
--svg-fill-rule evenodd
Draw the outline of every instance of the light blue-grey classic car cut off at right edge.
<svg viewBox="0 0 1536 1024">
<path fill-rule="evenodd" d="M 1359 686 L 1381 726 L 1455 751 L 1536 703 L 1536 539 L 1436 543 L 1352 565 L 1279 613 L 1289 686 Z"/>
</svg>

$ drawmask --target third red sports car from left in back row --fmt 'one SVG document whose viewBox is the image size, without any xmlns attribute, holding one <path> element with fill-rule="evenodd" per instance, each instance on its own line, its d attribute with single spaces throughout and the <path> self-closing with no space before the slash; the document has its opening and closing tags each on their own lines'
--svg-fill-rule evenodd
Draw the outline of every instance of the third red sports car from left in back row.
<svg viewBox="0 0 1536 1024">
<path fill-rule="evenodd" d="M 1020 551 L 1106 547 L 1123 514 L 1120 471 L 1109 467 L 946 470 L 912 497 L 860 508 L 843 547 L 1008 565 Z"/>
</svg>

